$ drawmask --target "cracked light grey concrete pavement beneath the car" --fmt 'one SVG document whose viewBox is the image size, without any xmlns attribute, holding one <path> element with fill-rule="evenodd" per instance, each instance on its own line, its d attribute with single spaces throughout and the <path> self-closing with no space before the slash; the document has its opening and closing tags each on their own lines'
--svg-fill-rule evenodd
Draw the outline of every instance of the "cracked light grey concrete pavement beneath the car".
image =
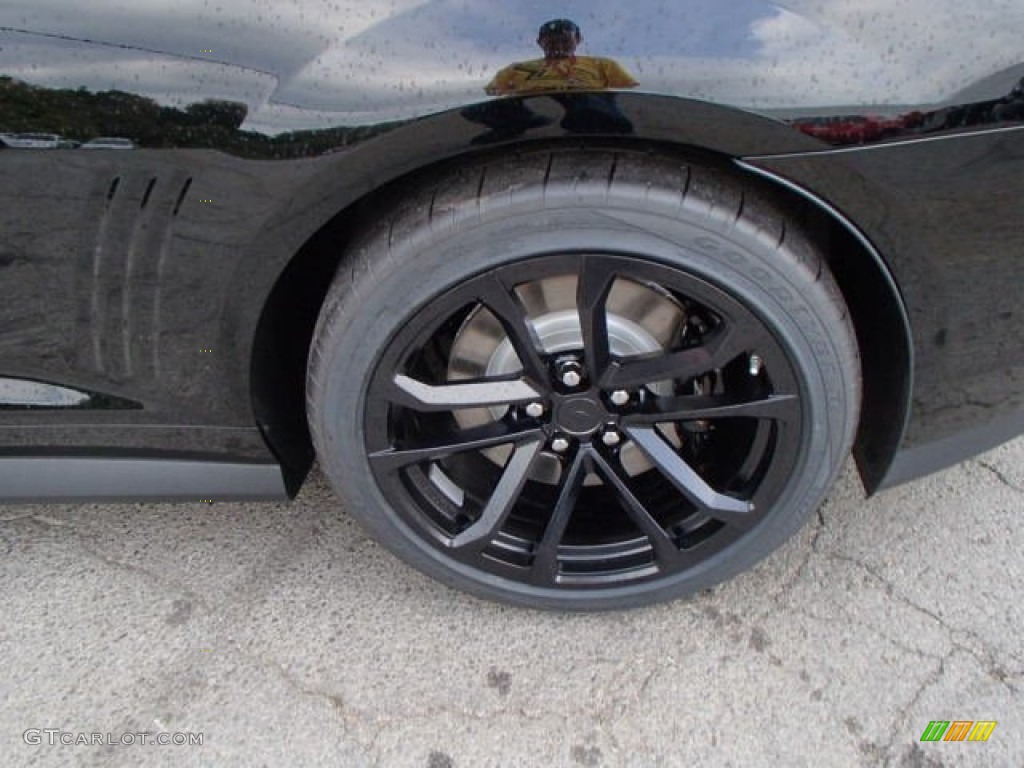
<svg viewBox="0 0 1024 768">
<path fill-rule="evenodd" d="M 866 502 L 848 471 L 755 570 L 562 615 L 397 563 L 318 474 L 290 505 L 0 507 L 0 763 L 1021 766 L 1022 521 L 1024 439 Z"/>
</svg>

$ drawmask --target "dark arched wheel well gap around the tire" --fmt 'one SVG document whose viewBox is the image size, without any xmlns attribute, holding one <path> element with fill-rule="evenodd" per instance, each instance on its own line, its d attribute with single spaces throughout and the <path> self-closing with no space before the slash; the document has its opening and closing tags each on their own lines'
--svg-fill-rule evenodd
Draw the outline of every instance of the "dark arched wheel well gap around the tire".
<svg viewBox="0 0 1024 768">
<path fill-rule="evenodd" d="M 551 144 L 552 142 L 545 142 Z M 559 141 L 555 146 L 669 152 L 713 158 L 731 166 L 772 195 L 812 234 L 822 249 L 850 310 L 860 345 L 863 398 L 854 456 L 868 493 L 880 485 L 903 435 L 909 409 L 912 350 L 902 300 L 881 257 L 852 224 L 804 190 L 735 159 L 700 147 L 637 142 Z M 504 147 L 509 153 L 536 143 Z M 492 151 L 495 152 L 495 151 Z M 478 156 L 479 153 L 473 153 Z M 353 234 L 375 211 L 400 196 L 414 179 L 439 167 L 465 162 L 467 156 L 420 168 L 364 196 L 316 231 L 289 261 L 278 279 L 257 324 L 251 361 L 253 410 L 271 451 L 282 463 L 290 494 L 298 492 L 313 462 L 306 423 L 306 360 L 316 319 L 334 273 Z"/>
</svg>

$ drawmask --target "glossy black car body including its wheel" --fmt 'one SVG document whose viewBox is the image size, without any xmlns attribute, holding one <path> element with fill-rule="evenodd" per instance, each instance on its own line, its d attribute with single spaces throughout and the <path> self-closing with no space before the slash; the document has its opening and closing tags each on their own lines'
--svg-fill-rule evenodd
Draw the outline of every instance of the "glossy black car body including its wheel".
<svg viewBox="0 0 1024 768">
<path fill-rule="evenodd" d="M 694 592 L 1024 431 L 1024 6 L 0 7 L 0 502 Z M 118 136 L 133 152 L 85 152 Z M 13 147 L 13 148 L 11 148 Z M 923 512 L 925 514 L 927 512 Z"/>
</svg>

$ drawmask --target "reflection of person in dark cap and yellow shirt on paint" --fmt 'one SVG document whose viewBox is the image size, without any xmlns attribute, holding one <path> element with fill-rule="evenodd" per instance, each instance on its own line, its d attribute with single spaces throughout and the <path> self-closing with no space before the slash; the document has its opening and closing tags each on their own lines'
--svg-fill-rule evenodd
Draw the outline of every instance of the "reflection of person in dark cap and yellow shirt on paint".
<svg viewBox="0 0 1024 768">
<path fill-rule="evenodd" d="M 633 88 L 637 85 L 633 76 L 613 59 L 578 56 L 575 49 L 582 41 L 580 28 L 569 19 L 546 22 L 537 36 L 537 44 L 544 49 L 544 58 L 506 67 L 487 83 L 484 90 L 492 96 L 506 96 L 555 90 Z"/>
</svg>

